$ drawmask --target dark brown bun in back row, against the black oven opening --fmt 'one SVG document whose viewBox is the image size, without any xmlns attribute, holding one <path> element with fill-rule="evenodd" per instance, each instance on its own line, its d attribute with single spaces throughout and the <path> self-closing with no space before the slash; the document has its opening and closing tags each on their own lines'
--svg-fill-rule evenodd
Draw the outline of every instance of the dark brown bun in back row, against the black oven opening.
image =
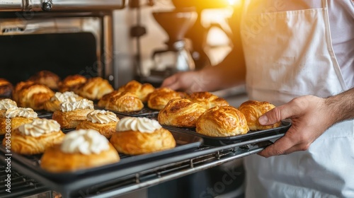
<svg viewBox="0 0 354 198">
<path fill-rule="evenodd" d="M 53 90 L 58 89 L 60 78 L 57 74 L 54 74 L 52 71 L 38 71 L 38 73 L 30 76 L 29 81 L 33 81 L 40 85 L 45 85 Z"/>
</svg>

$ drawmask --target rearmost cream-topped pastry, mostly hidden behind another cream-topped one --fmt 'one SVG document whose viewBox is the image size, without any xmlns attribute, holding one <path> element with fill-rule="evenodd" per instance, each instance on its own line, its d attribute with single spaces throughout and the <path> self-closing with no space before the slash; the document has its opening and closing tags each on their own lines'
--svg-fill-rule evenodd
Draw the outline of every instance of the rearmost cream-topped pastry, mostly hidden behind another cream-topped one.
<svg viewBox="0 0 354 198">
<path fill-rule="evenodd" d="M 64 93 L 57 92 L 55 93 L 55 95 L 53 95 L 52 98 L 50 98 L 50 100 L 47 100 L 47 102 L 44 103 L 43 107 L 47 111 L 55 112 L 57 110 L 60 110 L 61 103 L 64 103 L 66 101 L 75 102 L 81 99 L 82 98 L 79 95 L 76 95 L 72 91 L 66 91 Z"/>
</svg>

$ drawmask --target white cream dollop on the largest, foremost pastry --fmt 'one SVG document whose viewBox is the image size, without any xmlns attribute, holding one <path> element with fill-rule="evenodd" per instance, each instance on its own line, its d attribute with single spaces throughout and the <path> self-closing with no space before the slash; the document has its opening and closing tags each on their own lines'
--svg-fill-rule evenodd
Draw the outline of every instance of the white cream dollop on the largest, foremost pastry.
<svg viewBox="0 0 354 198">
<path fill-rule="evenodd" d="M 108 150 L 108 139 L 93 129 L 79 129 L 69 132 L 60 147 L 64 153 L 99 154 Z"/>
</svg>

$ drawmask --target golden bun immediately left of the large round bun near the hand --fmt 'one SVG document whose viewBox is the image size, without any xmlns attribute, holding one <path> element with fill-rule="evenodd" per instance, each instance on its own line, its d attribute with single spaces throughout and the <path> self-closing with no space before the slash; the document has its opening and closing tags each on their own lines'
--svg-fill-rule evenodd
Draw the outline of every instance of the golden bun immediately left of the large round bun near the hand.
<svg viewBox="0 0 354 198">
<path fill-rule="evenodd" d="M 173 127 L 195 127 L 198 117 L 207 109 L 188 99 L 174 98 L 160 110 L 157 120 L 160 124 Z"/>
</svg>

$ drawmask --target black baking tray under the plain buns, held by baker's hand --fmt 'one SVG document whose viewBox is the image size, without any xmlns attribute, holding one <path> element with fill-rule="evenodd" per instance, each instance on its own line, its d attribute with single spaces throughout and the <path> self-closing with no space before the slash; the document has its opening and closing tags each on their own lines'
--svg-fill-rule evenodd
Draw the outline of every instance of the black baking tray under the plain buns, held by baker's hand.
<svg viewBox="0 0 354 198">
<path fill-rule="evenodd" d="M 199 136 L 204 140 L 205 145 L 209 146 L 224 146 L 229 144 L 239 143 L 241 141 L 248 141 L 252 139 L 259 139 L 265 136 L 273 136 L 275 134 L 285 134 L 287 130 L 291 127 L 291 122 L 283 120 L 280 124 L 280 127 L 273 129 L 265 129 L 258 131 L 249 131 L 247 134 L 237 135 L 237 136 L 207 136 L 203 134 L 198 134 L 195 132 L 195 128 L 183 128 L 183 127 L 171 127 L 164 125 L 166 129 L 173 129 L 178 132 L 184 132 L 186 134 L 192 134 Z"/>
</svg>

